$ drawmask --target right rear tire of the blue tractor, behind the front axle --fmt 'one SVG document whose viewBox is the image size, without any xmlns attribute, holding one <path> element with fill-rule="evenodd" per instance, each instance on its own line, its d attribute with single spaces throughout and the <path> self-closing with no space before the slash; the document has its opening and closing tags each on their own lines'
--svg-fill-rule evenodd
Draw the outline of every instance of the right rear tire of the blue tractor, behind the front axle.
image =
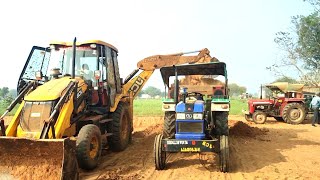
<svg viewBox="0 0 320 180">
<path fill-rule="evenodd" d="M 229 135 L 228 113 L 225 111 L 214 112 L 215 115 L 215 135 Z"/>
</svg>

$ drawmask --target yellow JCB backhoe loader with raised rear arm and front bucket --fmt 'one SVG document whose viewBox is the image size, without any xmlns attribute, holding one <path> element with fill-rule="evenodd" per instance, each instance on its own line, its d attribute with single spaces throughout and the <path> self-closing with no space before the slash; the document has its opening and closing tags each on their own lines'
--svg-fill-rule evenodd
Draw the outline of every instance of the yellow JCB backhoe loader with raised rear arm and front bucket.
<svg viewBox="0 0 320 180">
<path fill-rule="evenodd" d="M 78 179 L 78 167 L 98 165 L 103 146 L 124 150 L 133 131 L 133 99 L 154 70 L 212 59 L 207 49 L 184 54 L 143 59 L 122 82 L 118 50 L 111 44 L 75 39 L 34 46 L 19 95 L 0 117 L 0 179 Z"/>
</svg>

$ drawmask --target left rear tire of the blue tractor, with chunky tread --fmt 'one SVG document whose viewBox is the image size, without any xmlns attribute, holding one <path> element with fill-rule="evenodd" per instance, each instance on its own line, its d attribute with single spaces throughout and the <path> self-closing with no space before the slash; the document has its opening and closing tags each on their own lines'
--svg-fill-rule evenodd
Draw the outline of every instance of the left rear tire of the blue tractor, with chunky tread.
<svg viewBox="0 0 320 180">
<path fill-rule="evenodd" d="M 176 133 L 176 117 L 174 111 L 166 111 L 164 114 L 163 136 L 174 139 Z"/>
</svg>

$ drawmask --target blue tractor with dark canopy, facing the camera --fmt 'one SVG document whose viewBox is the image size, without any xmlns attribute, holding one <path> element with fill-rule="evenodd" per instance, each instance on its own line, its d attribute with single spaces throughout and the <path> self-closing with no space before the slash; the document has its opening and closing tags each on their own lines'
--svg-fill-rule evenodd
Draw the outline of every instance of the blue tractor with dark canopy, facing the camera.
<svg viewBox="0 0 320 180">
<path fill-rule="evenodd" d="M 155 168 L 165 169 L 168 153 L 215 152 L 219 154 L 220 170 L 228 172 L 230 101 L 226 64 L 177 65 L 163 67 L 160 72 L 169 89 L 169 98 L 163 101 L 162 106 L 165 111 L 163 132 L 156 135 L 154 141 Z M 202 82 L 223 77 L 224 82 L 211 85 L 201 82 L 179 83 L 179 76 L 192 76 Z M 171 88 L 170 77 L 175 77 Z"/>
</svg>

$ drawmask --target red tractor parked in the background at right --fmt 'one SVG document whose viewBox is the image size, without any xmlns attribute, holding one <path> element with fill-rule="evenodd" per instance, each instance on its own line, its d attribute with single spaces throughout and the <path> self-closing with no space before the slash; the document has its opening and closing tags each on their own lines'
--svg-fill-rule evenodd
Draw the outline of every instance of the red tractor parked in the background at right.
<svg viewBox="0 0 320 180">
<path fill-rule="evenodd" d="M 302 94 L 303 86 L 287 82 L 266 85 L 273 94 L 272 98 L 249 100 L 248 110 L 243 111 L 246 120 L 252 119 L 256 124 L 263 124 L 267 117 L 274 117 L 277 121 L 300 124 L 308 112 Z"/>
</svg>

